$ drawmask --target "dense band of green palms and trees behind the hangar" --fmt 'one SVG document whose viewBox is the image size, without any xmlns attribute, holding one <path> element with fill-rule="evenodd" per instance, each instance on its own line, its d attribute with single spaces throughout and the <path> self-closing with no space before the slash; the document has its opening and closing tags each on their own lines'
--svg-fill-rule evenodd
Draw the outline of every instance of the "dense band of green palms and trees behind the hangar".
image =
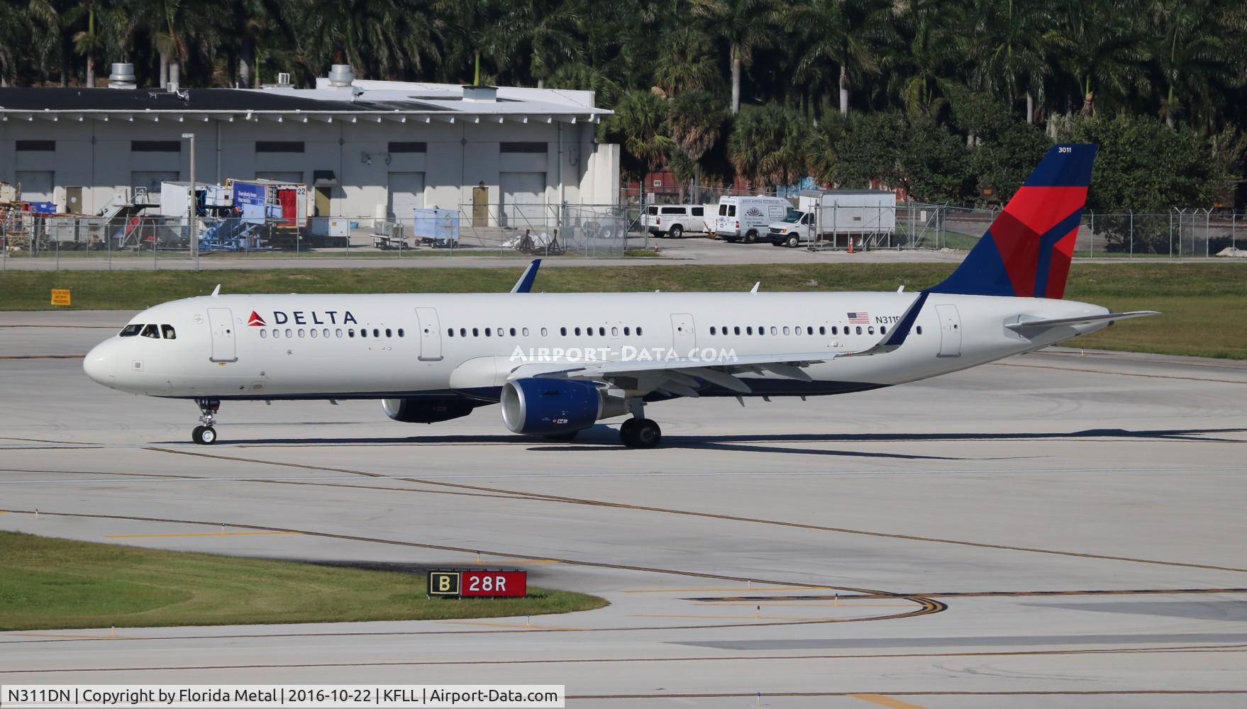
<svg viewBox="0 0 1247 709">
<path fill-rule="evenodd" d="M 589 90 L 619 111 L 600 132 L 628 174 L 933 201 L 1006 199 L 1051 140 L 1122 142 L 1102 127 L 1122 116 L 1130 159 L 1187 171 L 1146 177 L 1148 208 L 1206 206 L 1243 172 L 1247 132 L 1243 0 L 0 0 L 0 85 L 90 85 L 113 61 L 143 86 L 309 86 L 349 62 Z M 1117 150 L 1105 184 L 1132 179 Z M 1119 198 L 1140 199 L 1100 203 Z"/>
</svg>

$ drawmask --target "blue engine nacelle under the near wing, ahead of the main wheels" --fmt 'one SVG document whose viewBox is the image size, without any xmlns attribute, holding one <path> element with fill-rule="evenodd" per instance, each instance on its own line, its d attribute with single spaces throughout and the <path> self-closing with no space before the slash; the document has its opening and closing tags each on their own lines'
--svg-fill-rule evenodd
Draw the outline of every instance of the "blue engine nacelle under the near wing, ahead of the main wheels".
<svg viewBox="0 0 1247 709">
<path fill-rule="evenodd" d="M 587 381 L 527 378 L 503 385 L 503 422 L 513 434 L 552 436 L 622 415 L 624 399 Z"/>
</svg>

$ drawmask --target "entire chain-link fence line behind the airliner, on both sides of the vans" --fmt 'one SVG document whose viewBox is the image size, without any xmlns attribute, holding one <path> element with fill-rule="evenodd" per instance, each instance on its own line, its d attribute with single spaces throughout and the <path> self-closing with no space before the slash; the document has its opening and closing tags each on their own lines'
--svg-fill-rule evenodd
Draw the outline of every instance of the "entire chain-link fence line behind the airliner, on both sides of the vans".
<svg viewBox="0 0 1247 709">
<path fill-rule="evenodd" d="M 713 204 L 713 202 L 706 202 Z M 186 268 L 251 258 L 622 258 L 646 248 L 645 204 L 460 204 L 413 218 L 247 219 L 0 213 L 0 268 Z M 899 202 L 895 229 L 855 240 L 865 249 L 968 250 L 999 209 Z M 192 234 L 196 238 L 192 238 Z M 821 242 L 819 248 L 847 248 Z M 1241 252 L 1240 252 L 1241 250 Z M 1247 255 L 1247 213 L 1085 212 L 1077 258 Z M 86 263 L 91 259 L 91 263 Z M 181 262 L 181 263 L 175 263 Z"/>
</svg>

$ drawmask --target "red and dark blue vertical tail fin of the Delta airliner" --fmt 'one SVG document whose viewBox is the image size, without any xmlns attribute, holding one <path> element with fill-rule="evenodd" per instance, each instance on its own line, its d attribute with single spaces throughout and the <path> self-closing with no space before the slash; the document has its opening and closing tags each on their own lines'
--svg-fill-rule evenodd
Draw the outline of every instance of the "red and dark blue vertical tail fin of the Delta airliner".
<svg viewBox="0 0 1247 709">
<path fill-rule="evenodd" d="M 961 265 L 932 293 L 1065 295 L 1095 152 L 1094 145 L 1052 146 Z"/>
</svg>

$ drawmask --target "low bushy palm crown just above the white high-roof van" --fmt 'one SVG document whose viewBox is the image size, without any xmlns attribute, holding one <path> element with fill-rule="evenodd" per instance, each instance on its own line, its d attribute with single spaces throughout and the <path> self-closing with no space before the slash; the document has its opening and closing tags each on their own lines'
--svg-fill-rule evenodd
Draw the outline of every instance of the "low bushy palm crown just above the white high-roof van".
<svg viewBox="0 0 1247 709">
<path fill-rule="evenodd" d="M 727 152 L 737 174 L 757 187 L 792 184 L 807 174 L 809 123 L 778 103 L 747 106 L 734 118 Z"/>
</svg>

